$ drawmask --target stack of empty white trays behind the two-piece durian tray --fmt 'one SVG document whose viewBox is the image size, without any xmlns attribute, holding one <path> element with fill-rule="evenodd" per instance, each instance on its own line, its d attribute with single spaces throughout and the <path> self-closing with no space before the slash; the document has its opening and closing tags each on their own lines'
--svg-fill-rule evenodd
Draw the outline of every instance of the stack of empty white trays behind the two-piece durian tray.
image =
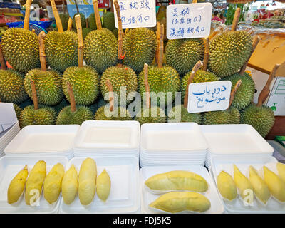
<svg viewBox="0 0 285 228">
<path fill-rule="evenodd" d="M 197 123 L 146 123 L 140 135 L 140 166 L 204 165 L 207 141 Z"/>
</svg>

